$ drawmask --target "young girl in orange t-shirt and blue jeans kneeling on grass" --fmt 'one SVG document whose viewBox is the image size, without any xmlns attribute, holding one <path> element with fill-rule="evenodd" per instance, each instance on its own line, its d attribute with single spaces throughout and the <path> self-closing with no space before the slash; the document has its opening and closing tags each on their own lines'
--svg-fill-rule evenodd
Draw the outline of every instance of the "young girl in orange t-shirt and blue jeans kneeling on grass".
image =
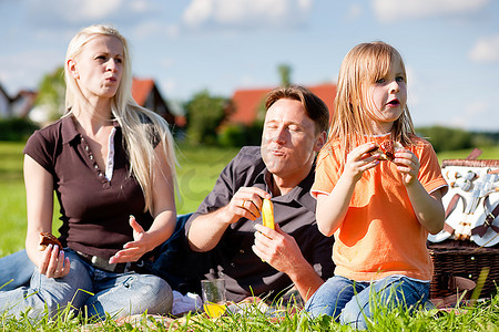
<svg viewBox="0 0 499 332">
<path fill-rule="evenodd" d="M 409 308 L 428 298 L 426 239 L 444 227 L 447 184 L 431 145 L 415 134 L 406 101 L 397 50 L 373 42 L 348 52 L 312 188 L 318 228 L 335 236 L 336 264 L 306 304 L 313 315 L 365 329 L 375 304 Z M 385 141 L 400 146 L 391 160 L 371 154 Z"/>
</svg>

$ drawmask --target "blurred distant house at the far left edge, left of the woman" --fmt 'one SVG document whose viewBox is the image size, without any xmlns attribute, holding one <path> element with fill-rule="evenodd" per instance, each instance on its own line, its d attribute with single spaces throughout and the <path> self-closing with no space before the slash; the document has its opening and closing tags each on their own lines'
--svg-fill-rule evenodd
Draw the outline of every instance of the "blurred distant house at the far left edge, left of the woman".
<svg viewBox="0 0 499 332">
<path fill-rule="evenodd" d="M 0 84 L 0 117 L 27 117 L 33 108 L 37 92 L 21 90 L 13 97 Z"/>
</svg>

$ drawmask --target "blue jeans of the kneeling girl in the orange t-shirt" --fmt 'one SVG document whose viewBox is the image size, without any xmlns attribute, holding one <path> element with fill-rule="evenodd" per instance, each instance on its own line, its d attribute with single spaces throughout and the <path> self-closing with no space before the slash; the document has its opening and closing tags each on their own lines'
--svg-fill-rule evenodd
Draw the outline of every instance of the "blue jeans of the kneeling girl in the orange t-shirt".
<svg viewBox="0 0 499 332">
<path fill-rule="evenodd" d="M 371 282 L 358 282 L 344 277 L 329 278 L 308 299 L 305 310 L 312 317 L 328 314 L 342 324 L 367 329 L 367 320 L 376 310 L 404 305 L 408 310 L 425 304 L 429 282 L 404 276 L 390 276 Z M 381 311 L 383 312 L 383 311 Z"/>
</svg>

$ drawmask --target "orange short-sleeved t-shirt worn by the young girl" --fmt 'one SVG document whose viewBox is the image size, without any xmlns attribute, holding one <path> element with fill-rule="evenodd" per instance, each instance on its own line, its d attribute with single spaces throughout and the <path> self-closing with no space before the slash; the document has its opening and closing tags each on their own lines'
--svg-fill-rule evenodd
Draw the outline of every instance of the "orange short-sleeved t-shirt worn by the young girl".
<svg viewBox="0 0 499 332">
<path fill-rule="evenodd" d="M 381 143 L 386 136 L 373 137 Z M 447 191 L 447 183 L 432 146 L 414 138 L 409 149 L 419 158 L 418 179 L 431 193 Z M 342 175 L 339 143 L 329 142 L 319 153 L 312 195 L 333 190 Z M 391 274 L 429 281 L 434 273 L 426 247 L 428 231 L 419 224 L 401 174 L 387 160 L 364 173 L 355 186 L 347 215 L 335 231 L 335 274 L 370 281 Z"/>
</svg>

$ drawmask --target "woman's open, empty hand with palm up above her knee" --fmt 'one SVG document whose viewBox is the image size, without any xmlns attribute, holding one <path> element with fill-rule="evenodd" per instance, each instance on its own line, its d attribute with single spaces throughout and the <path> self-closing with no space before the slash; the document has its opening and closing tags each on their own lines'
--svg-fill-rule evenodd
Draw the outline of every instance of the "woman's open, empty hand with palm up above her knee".
<svg viewBox="0 0 499 332">
<path fill-rule="evenodd" d="M 138 261 L 145 252 L 154 249 L 150 241 L 150 235 L 136 222 L 135 217 L 130 216 L 129 222 L 133 228 L 133 241 L 126 242 L 123 246 L 123 250 L 114 253 L 109 259 L 110 264 Z"/>
</svg>

